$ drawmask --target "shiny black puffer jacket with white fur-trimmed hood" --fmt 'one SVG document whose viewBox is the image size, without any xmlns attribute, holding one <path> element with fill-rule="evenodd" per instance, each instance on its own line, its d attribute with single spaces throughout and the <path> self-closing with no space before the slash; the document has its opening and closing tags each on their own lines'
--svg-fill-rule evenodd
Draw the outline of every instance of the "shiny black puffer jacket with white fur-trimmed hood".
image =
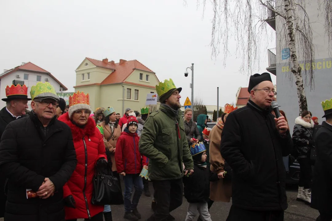
<svg viewBox="0 0 332 221">
<path fill-rule="evenodd" d="M 296 151 L 296 156 L 309 156 L 310 148 L 314 145 L 312 138 L 314 123 L 305 122 L 301 116 L 295 119 L 295 126 L 293 130 L 293 143 Z"/>
</svg>

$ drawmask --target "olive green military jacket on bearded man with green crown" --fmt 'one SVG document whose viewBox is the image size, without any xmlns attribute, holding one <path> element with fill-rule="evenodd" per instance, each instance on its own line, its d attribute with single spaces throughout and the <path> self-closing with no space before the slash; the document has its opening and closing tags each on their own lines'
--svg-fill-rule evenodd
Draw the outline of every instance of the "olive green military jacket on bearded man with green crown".
<svg viewBox="0 0 332 221">
<path fill-rule="evenodd" d="M 151 180 L 182 178 L 182 163 L 186 169 L 194 169 L 183 118 L 165 104 L 161 104 L 159 110 L 145 121 L 139 139 L 139 152 L 149 158 L 148 176 Z"/>
</svg>

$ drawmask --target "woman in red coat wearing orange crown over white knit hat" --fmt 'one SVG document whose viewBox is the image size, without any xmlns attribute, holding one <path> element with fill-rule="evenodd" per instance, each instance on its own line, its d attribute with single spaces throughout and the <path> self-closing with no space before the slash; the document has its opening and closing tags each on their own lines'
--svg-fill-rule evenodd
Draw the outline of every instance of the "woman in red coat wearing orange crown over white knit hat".
<svg viewBox="0 0 332 221">
<path fill-rule="evenodd" d="M 104 140 L 90 114 L 89 95 L 77 92 L 69 97 L 68 112 L 58 119 L 71 129 L 77 157 L 75 171 L 63 187 L 67 221 L 103 221 L 104 206 L 91 204 L 92 179 L 96 165 L 104 166 L 107 160 Z"/>
</svg>

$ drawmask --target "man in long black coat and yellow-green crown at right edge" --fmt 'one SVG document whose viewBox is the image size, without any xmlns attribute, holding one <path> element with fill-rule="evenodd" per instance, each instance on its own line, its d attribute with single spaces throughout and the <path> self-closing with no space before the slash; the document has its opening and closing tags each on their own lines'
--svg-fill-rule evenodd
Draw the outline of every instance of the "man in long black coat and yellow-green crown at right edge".
<svg viewBox="0 0 332 221">
<path fill-rule="evenodd" d="M 311 207 L 319 211 L 317 221 L 332 219 L 332 99 L 322 102 L 326 121 L 315 136 L 316 163 Z"/>
</svg>

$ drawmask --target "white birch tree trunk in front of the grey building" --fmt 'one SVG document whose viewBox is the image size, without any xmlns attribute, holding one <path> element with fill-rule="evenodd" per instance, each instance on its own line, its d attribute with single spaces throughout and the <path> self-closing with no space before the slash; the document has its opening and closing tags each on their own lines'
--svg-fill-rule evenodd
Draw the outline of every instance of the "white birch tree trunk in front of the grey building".
<svg viewBox="0 0 332 221">
<path fill-rule="evenodd" d="M 284 0 L 284 7 L 285 7 L 285 15 L 286 15 L 287 35 L 288 35 L 289 48 L 290 48 L 290 59 L 291 59 L 291 63 L 292 63 L 291 72 L 293 73 L 293 75 L 295 77 L 299 113 L 301 114 L 302 111 L 308 110 L 308 105 L 307 105 L 307 98 L 305 96 L 303 78 L 301 75 L 301 68 L 298 64 L 298 60 L 297 60 L 297 56 L 296 56 L 295 35 L 294 35 L 294 27 L 293 27 L 293 22 L 292 22 L 290 0 Z"/>
</svg>

